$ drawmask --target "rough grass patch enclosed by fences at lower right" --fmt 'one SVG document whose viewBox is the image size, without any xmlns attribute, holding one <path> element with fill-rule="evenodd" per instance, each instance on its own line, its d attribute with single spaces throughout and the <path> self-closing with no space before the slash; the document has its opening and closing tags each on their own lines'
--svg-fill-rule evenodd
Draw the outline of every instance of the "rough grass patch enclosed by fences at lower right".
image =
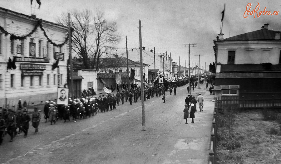
<svg viewBox="0 0 281 164">
<path fill-rule="evenodd" d="M 231 113 L 234 120 L 228 123 Z M 280 164 L 279 116 L 278 111 L 258 109 L 218 113 L 217 164 Z"/>
</svg>

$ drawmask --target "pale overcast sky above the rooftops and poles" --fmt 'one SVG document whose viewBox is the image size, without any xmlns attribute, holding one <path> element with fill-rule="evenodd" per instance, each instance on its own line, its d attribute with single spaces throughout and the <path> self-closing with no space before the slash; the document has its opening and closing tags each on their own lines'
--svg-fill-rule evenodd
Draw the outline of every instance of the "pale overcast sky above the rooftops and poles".
<svg viewBox="0 0 281 164">
<path fill-rule="evenodd" d="M 88 9 L 95 13 L 104 12 L 105 19 L 117 22 L 121 41 L 117 53 L 126 52 L 127 36 L 128 49 L 139 47 L 139 20 L 141 20 L 142 46 L 149 51 L 155 47 L 155 52 L 171 53 L 173 62 L 188 67 L 188 48 L 184 44 L 196 44 L 190 48 L 190 66 L 198 64 L 205 68 L 214 59 L 214 41 L 222 25 L 221 12 L 224 10 L 222 33 L 224 38 L 261 29 L 269 24 L 269 30 L 281 31 L 281 11 L 278 15 L 261 15 L 254 18 L 249 15 L 244 18 L 248 3 L 252 11 L 259 2 L 259 12 L 281 10 L 280 0 L 41 0 L 40 9 L 36 0 L 32 7 L 30 0 L 0 0 L 0 6 L 23 14 L 34 14 L 37 18 L 56 22 L 62 12 L 74 9 Z M 248 7 L 249 9 L 249 7 Z M 250 13 L 249 13 L 250 14 Z M 245 15 L 246 16 L 246 15 Z"/>
</svg>

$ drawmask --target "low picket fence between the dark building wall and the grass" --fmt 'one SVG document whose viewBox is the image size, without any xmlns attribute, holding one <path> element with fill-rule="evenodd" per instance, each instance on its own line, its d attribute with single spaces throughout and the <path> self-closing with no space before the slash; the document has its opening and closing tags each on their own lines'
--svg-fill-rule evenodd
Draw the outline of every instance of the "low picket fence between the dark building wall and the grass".
<svg viewBox="0 0 281 164">
<path fill-rule="evenodd" d="M 281 98 L 267 99 L 216 99 L 217 108 L 221 109 L 227 105 L 234 105 L 236 108 L 281 108 Z"/>
</svg>

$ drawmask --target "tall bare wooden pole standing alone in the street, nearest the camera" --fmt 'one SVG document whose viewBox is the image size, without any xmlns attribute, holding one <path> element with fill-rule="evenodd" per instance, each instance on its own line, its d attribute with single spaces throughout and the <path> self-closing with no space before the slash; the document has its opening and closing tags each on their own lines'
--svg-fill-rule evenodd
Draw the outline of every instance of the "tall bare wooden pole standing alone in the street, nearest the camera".
<svg viewBox="0 0 281 164">
<path fill-rule="evenodd" d="M 141 41 L 141 20 L 139 20 L 139 37 L 140 37 L 140 63 L 142 67 L 142 41 Z M 141 112 L 142 112 L 142 130 L 145 130 L 145 106 L 144 106 L 144 87 L 143 87 L 143 70 L 141 69 Z"/>
</svg>

